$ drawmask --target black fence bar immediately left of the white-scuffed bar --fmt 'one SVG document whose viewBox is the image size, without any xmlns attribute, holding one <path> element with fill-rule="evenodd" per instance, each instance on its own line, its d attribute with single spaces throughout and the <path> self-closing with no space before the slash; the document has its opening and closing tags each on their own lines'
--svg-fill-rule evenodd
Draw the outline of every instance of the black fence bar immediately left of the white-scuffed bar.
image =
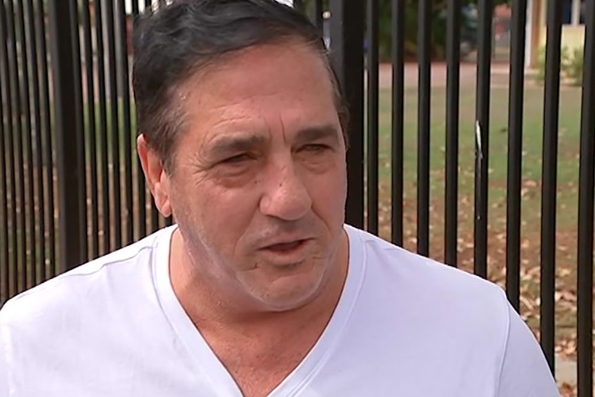
<svg viewBox="0 0 595 397">
<path fill-rule="evenodd" d="M 457 265 L 460 0 L 447 6 L 447 124 L 445 170 L 445 262 Z"/>
</svg>

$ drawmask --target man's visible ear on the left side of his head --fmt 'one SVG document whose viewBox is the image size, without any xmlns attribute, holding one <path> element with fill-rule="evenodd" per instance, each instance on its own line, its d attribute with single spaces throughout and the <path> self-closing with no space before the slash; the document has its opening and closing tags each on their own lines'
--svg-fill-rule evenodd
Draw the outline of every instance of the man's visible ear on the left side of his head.
<svg viewBox="0 0 595 397">
<path fill-rule="evenodd" d="M 137 138 L 137 151 L 141 160 L 146 182 L 155 199 L 157 209 L 164 217 L 171 215 L 170 177 L 163 168 L 159 155 L 153 151 L 143 134 Z"/>
</svg>

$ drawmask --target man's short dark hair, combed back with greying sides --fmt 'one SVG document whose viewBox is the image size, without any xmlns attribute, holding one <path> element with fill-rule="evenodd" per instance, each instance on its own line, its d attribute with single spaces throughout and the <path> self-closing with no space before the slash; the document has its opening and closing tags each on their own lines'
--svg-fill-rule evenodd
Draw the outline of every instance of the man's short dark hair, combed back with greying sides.
<svg viewBox="0 0 595 397">
<path fill-rule="evenodd" d="M 182 127 L 183 117 L 175 103 L 179 85 L 224 55 L 296 39 L 324 59 L 347 137 L 347 106 L 324 39 L 298 10 L 275 0 L 173 0 L 140 17 L 135 27 L 133 66 L 137 123 L 166 171 L 173 169 L 173 151 Z"/>
</svg>

